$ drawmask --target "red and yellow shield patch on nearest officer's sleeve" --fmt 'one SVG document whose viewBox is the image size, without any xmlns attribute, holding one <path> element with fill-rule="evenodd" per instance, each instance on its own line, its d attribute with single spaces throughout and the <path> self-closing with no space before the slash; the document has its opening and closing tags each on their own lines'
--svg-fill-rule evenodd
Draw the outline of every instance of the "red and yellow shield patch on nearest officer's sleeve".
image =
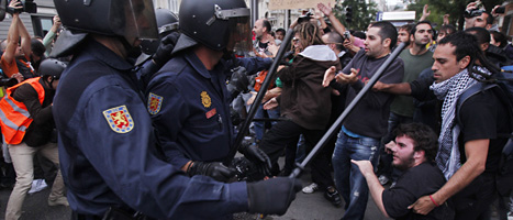
<svg viewBox="0 0 513 220">
<path fill-rule="evenodd" d="M 118 133 L 127 133 L 134 128 L 134 120 L 132 120 L 126 106 L 104 110 L 103 116 L 112 131 Z"/>
</svg>

